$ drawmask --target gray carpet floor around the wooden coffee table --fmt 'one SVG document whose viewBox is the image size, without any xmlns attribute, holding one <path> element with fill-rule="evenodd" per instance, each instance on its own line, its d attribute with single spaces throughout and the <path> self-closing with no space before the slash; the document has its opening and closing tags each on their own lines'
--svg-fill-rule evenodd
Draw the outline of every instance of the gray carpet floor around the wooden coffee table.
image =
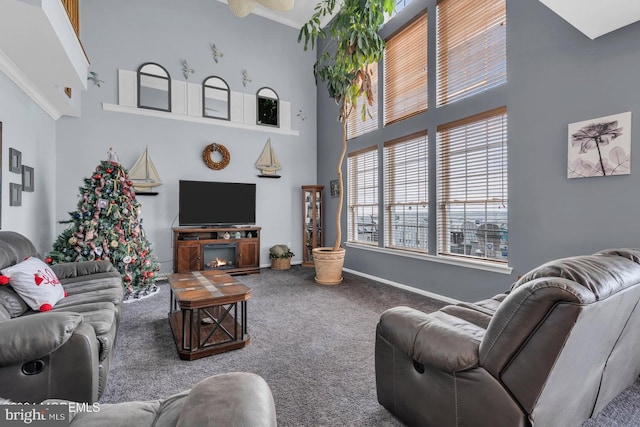
<svg viewBox="0 0 640 427">
<path fill-rule="evenodd" d="M 426 312 L 442 302 L 345 273 L 319 286 L 313 269 L 236 276 L 252 289 L 251 343 L 194 361 L 178 358 L 167 321 L 169 289 L 126 304 L 102 403 L 167 397 L 210 375 L 254 372 L 271 387 L 281 426 L 402 426 L 376 399 L 375 326 L 396 305 Z M 583 427 L 640 425 L 640 383 Z"/>
</svg>

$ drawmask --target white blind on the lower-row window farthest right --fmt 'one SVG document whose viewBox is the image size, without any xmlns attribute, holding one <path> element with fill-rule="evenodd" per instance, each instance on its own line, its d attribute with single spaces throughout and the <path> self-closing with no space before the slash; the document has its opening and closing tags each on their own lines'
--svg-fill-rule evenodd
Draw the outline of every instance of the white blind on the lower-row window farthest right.
<svg viewBox="0 0 640 427">
<path fill-rule="evenodd" d="M 506 108 L 437 131 L 439 253 L 506 262 Z"/>
</svg>

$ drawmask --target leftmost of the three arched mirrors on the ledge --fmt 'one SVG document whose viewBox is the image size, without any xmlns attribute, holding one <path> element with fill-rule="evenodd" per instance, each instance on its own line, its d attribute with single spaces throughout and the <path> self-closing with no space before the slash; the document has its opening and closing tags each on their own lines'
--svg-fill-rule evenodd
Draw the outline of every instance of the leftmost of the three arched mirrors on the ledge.
<svg viewBox="0 0 640 427">
<path fill-rule="evenodd" d="M 138 108 L 171 111 L 171 77 L 162 65 L 145 62 L 138 68 Z"/>
</svg>

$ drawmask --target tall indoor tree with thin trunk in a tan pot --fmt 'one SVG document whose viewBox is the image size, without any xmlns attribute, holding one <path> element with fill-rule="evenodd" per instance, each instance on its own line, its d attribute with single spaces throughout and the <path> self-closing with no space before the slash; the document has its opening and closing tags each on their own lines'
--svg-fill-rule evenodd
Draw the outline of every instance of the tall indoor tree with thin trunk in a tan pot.
<svg viewBox="0 0 640 427">
<path fill-rule="evenodd" d="M 322 18 L 331 16 L 338 5 L 338 12 L 331 22 L 322 28 Z M 338 160 L 339 194 L 336 212 L 336 240 L 333 248 L 315 248 L 313 250 L 316 267 L 316 282 L 336 285 L 342 282 L 344 248 L 340 247 L 342 238 L 341 215 L 343 204 L 342 163 L 347 152 L 347 120 L 358 105 L 362 104 L 363 120 L 366 120 L 367 106 L 373 105 L 374 88 L 371 82 L 369 66 L 382 59 L 385 42 L 378 31 L 385 22 L 385 14 L 391 16 L 395 0 L 321 0 L 298 35 L 298 42 L 304 41 L 304 49 L 313 48 L 318 39 L 329 37 L 324 49 L 318 55 L 313 73 L 318 80 L 326 82 L 329 96 L 340 107 L 338 120 L 342 123 L 342 152 Z"/>
</svg>

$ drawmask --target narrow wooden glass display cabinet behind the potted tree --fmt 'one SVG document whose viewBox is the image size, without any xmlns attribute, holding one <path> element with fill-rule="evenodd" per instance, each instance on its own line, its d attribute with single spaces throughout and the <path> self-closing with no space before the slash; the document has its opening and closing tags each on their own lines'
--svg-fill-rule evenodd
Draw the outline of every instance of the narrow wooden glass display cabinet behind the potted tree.
<svg viewBox="0 0 640 427">
<path fill-rule="evenodd" d="M 313 248 L 324 246 L 322 185 L 302 186 L 302 265 L 313 266 Z"/>
</svg>

